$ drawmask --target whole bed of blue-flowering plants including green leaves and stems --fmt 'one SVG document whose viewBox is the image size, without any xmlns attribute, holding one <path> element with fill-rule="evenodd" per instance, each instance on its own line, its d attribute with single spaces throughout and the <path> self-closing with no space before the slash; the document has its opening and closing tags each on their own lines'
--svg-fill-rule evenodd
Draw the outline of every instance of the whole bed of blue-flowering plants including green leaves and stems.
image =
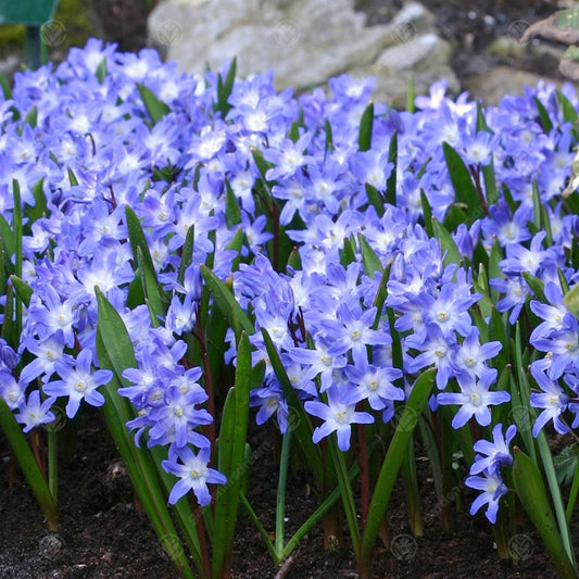
<svg viewBox="0 0 579 579">
<path fill-rule="evenodd" d="M 482 110 L 442 81 L 395 111 L 372 79 L 235 67 L 91 40 L 4 89 L 0 424 L 49 528 L 58 427 L 89 405 L 182 577 L 230 576 L 241 508 L 275 565 L 345 520 L 370 577 L 399 477 L 424 534 L 416 453 L 442 528 L 464 494 L 516 559 L 524 511 L 576 577 L 572 88 Z M 279 442 L 274 539 L 250 420 Z M 318 505 L 288 538 L 295 465 Z"/>
</svg>

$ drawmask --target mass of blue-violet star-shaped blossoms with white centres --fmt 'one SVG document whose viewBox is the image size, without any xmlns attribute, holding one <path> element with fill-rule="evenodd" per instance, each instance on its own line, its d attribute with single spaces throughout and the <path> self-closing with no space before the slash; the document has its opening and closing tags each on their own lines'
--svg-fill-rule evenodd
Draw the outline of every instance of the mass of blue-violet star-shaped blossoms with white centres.
<svg viewBox="0 0 579 579">
<path fill-rule="evenodd" d="M 499 380 L 504 344 L 489 327 L 517 324 L 529 302 L 542 320 L 529 340 L 545 354 L 530 364 L 533 435 L 550 420 L 567 431 L 567 412 L 579 424 L 578 323 L 563 302 L 579 279 L 579 224 L 561 198 L 577 143 L 559 105 L 577 105 L 569 88 L 540 85 L 482 115 L 440 83 L 416 99 L 417 112 L 374 105 L 363 147 L 372 79 L 341 76 L 329 93 L 294 97 L 267 73 L 236 80 L 224 105 L 222 78 L 179 75 L 154 51 L 119 54 L 96 40 L 55 68 L 16 75 L 0 104 L 0 225 L 23 211 L 15 272 L 32 293 L 17 343 L 0 342 L 0 395 L 26 429 L 52 420 L 58 398 L 70 418 L 83 402 L 104 403 L 99 389 L 113 375 L 97 356 L 99 288 L 135 350 L 119 390 L 136 412 L 127 427 L 137 443 L 166 446 L 163 467 L 179 478 L 172 503 L 192 489 L 207 504 L 206 483 L 225 477 L 209 467 L 215 417 L 205 370 L 189 355 L 206 329 L 205 264 L 254 322 L 253 363 L 265 365 L 250 399 L 259 424 L 289 428 L 268 336 L 316 443 L 336 432 L 348 451 L 352 425 L 390 421 L 428 367 L 432 412 L 450 405 L 455 429 L 492 426 L 492 407 L 511 394 Z M 476 189 L 469 205 L 452 155 Z M 142 227 L 162 312 L 143 295 L 126 207 Z M 5 297 L 2 306 L 5 324 Z M 473 511 L 489 503 L 491 520 L 514 436 L 495 425 L 492 448 L 475 445 L 486 456 L 467 480 L 483 490 Z"/>
</svg>

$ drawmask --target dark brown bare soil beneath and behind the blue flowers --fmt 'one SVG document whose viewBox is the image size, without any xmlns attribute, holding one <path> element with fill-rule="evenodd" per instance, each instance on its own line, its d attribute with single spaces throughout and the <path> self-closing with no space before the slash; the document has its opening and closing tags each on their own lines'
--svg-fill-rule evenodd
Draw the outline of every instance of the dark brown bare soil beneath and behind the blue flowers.
<svg viewBox="0 0 579 579">
<path fill-rule="evenodd" d="M 102 2 L 121 12 L 101 14 L 106 38 L 123 39 L 127 49 L 143 43 L 142 27 L 137 33 L 118 18 L 123 10 L 139 2 Z M 556 9 L 556 1 L 516 0 L 423 0 L 436 15 L 442 35 L 463 47 L 455 59 L 460 77 L 489 65 L 483 49 L 498 35 L 508 34 L 513 23 L 532 23 Z M 125 4 L 130 4 L 128 8 Z M 370 23 L 385 22 L 398 0 L 360 0 Z M 116 15 L 116 20 L 115 20 Z M 489 16 L 492 18 L 489 18 Z M 128 17 L 128 16 L 127 16 Z M 109 24 L 108 24 L 109 23 Z M 141 23 L 142 24 L 142 23 Z M 115 28 L 116 26 L 116 28 Z M 509 63 L 537 71 L 537 62 Z M 551 66 L 551 65 L 550 65 Z M 541 71 L 539 71 L 541 72 Z M 554 70 L 549 71 L 553 75 Z M 545 73 L 546 74 L 546 73 Z M 60 461 L 60 533 L 49 534 L 42 515 L 26 487 L 22 474 L 13 468 L 5 440 L 0 435 L 0 577 L 5 579 L 174 578 L 147 516 L 133 500 L 130 486 L 100 414 L 88 410 L 75 435 L 72 456 Z M 268 530 L 274 530 L 277 486 L 275 444 L 269 430 L 255 430 L 250 442 L 257 456 L 250 477 L 249 500 Z M 420 450 L 417 449 L 417 456 Z M 524 561 L 518 567 L 496 554 L 491 526 L 482 514 L 468 515 L 473 495 L 468 489 L 457 493 L 463 507 L 451 505 L 452 526 L 442 530 L 433 483 L 426 461 L 420 461 L 420 509 L 425 534 L 414 539 L 408 526 L 406 499 L 397 487 L 387 516 L 389 547 L 377 545 L 375 574 L 378 578 L 554 578 L 555 571 L 540 538 L 529 524 L 519 529 L 518 545 Z M 458 487 L 462 487 L 458 483 Z M 288 484 L 288 533 L 317 506 L 315 488 L 298 471 Z M 348 545 L 348 540 L 345 541 Z M 516 547 L 516 545 L 515 545 Z M 246 513 L 241 513 L 234 552 L 235 578 L 273 578 L 275 569 L 263 541 Z M 278 577 L 356 577 L 355 559 L 348 546 L 323 549 L 320 526 L 306 537 Z"/>
</svg>

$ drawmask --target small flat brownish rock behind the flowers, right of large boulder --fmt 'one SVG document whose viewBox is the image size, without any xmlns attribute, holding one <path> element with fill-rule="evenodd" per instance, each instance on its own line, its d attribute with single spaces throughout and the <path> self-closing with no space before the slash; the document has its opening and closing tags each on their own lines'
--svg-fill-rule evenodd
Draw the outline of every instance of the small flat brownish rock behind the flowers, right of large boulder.
<svg viewBox="0 0 579 579">
<path fill-rule="evenodd" d="M 478 97 L 483 104 L 496 105 L 505 95 L 523 95 L 525 87 L 536 87 L 544 78 L 538 74 L 517 71 L 509 66 L 494 66 L 481 75 L 468 79 L 466 90 Z M 544 78 L 561 87 L 559 80 Z"/>
</svg>

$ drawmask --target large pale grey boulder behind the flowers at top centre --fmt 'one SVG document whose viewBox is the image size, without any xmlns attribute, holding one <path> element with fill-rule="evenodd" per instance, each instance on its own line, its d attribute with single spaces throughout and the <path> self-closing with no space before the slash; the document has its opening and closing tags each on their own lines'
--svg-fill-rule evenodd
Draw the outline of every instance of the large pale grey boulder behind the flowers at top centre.
<svg viewBox="0 0 579 579">
<path fill-rule="evenodd" d="M 181 71 L 218 70 L 237 56 L 240 77 L 274 68 L 278 89 L 310 90 L 348 72 L 376 76 L 374 99 L 386 103 L 405 102 L 411 76 L 417 92 L 441 77 L 458 91 L 451 47 L 421 4 L 387 25 L 365 23 L 353 0 L 165 0 L 149 34 Z"/>
</svg>

